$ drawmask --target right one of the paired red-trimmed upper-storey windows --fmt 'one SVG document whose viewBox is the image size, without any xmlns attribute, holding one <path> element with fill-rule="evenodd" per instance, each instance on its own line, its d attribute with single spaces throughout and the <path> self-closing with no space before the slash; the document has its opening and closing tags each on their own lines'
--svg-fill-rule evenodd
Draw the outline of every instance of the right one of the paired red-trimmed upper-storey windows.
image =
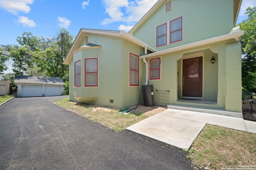
<svg viewBox="0 0 256 170">
<path fill-rule="evenodd" d="M 170 21 L 170 43 L 182 41 L 182 16 Z"/>
</svg>

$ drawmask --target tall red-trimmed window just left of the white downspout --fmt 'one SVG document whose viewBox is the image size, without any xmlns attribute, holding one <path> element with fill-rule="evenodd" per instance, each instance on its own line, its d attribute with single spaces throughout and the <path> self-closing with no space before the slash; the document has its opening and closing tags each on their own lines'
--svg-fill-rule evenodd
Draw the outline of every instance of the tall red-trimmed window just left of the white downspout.
<svg viewBox="0 0 256 170">
<path fill-rule="evenodd" d="M 130 53 L 130 86 L 139 86 L 139 56 Z"/>
</svg>

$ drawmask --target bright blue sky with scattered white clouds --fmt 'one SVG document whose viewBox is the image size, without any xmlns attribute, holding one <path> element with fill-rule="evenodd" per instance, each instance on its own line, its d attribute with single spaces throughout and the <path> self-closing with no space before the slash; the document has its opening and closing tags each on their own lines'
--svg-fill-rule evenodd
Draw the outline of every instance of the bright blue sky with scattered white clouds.
<svg viewBox="0 0 256 170">
<path fill-rule="evenodd" d="M 17 36 L 53 37 L 63 27 L 74 37 L 80 28 L 129 31 L 158 0 L 0 0 L 0 45 L 16 45 Z M 245 20 L 243 0 L 237 23 Z"/>
</svg>

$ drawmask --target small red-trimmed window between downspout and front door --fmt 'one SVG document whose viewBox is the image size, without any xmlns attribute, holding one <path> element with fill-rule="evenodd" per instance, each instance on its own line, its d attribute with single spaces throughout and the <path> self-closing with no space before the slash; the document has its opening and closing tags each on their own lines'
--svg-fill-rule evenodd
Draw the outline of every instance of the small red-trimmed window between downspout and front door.
<svg viewBox="0 0 256 170">
<path fill-rule="evenodd" d="M 160 58 L 149 60 L 149 80 L 159 80 L 160 79 Z"/>
</svg>

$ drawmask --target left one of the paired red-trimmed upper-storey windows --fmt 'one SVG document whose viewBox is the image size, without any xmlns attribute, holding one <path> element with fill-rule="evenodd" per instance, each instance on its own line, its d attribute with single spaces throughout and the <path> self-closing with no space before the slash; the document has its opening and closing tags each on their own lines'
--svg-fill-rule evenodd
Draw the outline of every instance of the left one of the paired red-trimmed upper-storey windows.
<svg viewBox="0 0 256 170">
<path fill-rule="evenodd" d="M 167 23 L 156 27 L 156 47 L 167 44 Z"/>
</svg>

